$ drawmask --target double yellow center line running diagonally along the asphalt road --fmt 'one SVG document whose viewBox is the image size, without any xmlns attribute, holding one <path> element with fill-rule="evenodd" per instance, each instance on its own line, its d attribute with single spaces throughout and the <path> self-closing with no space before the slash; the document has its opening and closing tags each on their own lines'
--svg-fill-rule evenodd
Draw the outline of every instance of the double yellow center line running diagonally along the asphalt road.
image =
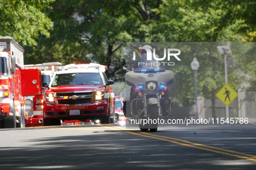
<svg viewBox="0 0 256 170">
<path fill-rule="evenodd" d="M 107 126 L 111 126 L 111 125 L 107 125 Z M 125 128 L 118 127 L 118 126 L 113 126 L 113 127 L 116 127 L 118 129 L 125 129 Z M 129 129 L 129 130 L 132 130 L 132 129 Z M 127 131 L 124 131 L 124 132 L 127 132 Z M 212 152 L 216 152 L 216 153 L 220 153 L 220 154 L 226 154 L 226 155 L 239 157 L 239 158 L 243 158 L 243 159 L 247 159 L 247 160 L 256 162 L 256 159 L 249 158 L 249 157 L 255 157 L 256 158 L 255 155 L 251 155 L 251 154 L 244 154 L 244 153 L 240 153 L 240 152 L 237 152 L 237 151 L 231 151 L 231 150 L 227 150 L 227 149 L 202 145 L 202 144 L 198 144 L 198 143 L 194 143 L 194 142 L 185 141 L 185 140 L 182 140 L 182 139 L 170 138 L 170 137 L 160 136 L 160 135 L 153 135 L 153 134 L 146 133 L 146 132 L 137 132 L 137 133 L 136 132 L 127 132 L 127 133 L 131 133 L 133 135 L 140 135 L 140 136 L 144 136 L 144 137 L 148 137 L 148 138 L 160 139 L 160 140 L 172 142 L 172 143 L 175 143 L 175 144 L 178 144 L 178 145 L 184 145 L 184 146 L 188 146 L 188 147 L 192 147 L 192 148 L 198 148 L 198 149 L 203 149 L 203 150 L 206 150 L 206 151 L 212 151 Z M 139 133 L 142 133 L 143 135 L 141 135 Z M 162 138 L 165 138 L 165 139 L 162 139 Z M 168 140 L 168 139 L 185 142 L 185 143 L 189 143 L 189 144 L 192 144 L 192 145 L 188 145 L 188 144 L 184 144 L 184 143 L 180 143 L 180 142 L 176 142 L 176 141 L 172 141 L 172 140 Z M 193 146 L 193 145 L 196 145 L 196 146 Z M 198 147 L 198 146 L 205 147 L 205 148 L 201 148 L 201 147 Z M 217 150 L 221 150 L 221 151 L 215 151 L 215 150 L 207 149 L 207 148 L 217 149 Z M 235 153 L 235 154 L 225 153 L 225 152 L 222 152 L 222 151 L 227 151 L 227 152 L 231 152 L 231 153 Z M 241 155 L 245 155 L 245 156 L 249 156 L 249 157 L 243 157 L 243 156 L 236 155 L 236 154 L 241 154 Z"/>
</svg>

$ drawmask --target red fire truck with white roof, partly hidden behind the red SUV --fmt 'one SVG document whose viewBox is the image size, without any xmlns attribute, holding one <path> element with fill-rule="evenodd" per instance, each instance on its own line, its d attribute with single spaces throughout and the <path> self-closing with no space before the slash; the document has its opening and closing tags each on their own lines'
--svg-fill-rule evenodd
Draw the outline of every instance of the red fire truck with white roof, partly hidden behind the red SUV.
<svg viewBox="0 0 256 170">
<path fill-rule="evenodd" d="M 41 70 L 41 82 L 50 84 L 52 76 L 56 71 L 57 66 L 62 66 L 62 63 L 42 63 L 24 65 L 25 69 L 39 69 Z M 42 87 L 42 86 L 41 86 Z M 34 96 L 25 96 L 26 102 L 26 127 L 44 126 L 43 124 L 43 95 L 48 88 L 42 87 L 42 94 Z"/>
</svg>

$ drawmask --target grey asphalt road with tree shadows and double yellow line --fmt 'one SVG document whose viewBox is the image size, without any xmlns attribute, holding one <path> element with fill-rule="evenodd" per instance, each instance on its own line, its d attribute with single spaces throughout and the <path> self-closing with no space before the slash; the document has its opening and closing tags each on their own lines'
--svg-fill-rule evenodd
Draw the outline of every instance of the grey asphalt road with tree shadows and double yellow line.
<svg viewBox="0 0 256 170">
<path fill-rule="evenodd" d="M 127 128 L 0 129 L 0 169 L 256 170 L 256 123 Z"/>
</svg>

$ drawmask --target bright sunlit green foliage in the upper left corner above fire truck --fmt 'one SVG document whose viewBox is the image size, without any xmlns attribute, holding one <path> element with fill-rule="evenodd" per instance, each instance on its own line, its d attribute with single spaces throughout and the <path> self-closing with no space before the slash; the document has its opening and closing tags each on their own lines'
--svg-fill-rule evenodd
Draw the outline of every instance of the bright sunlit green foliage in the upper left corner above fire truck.
<svg viewBox="0 0 256 170">
<path fill-rule="evenodd" d="M 21 45 L 36 45 L 41 33 L 49 37 L 53 23 L 42 10 L 53 0 L 0 0 L 0 36 L 10 36 Z"/>
</svg>

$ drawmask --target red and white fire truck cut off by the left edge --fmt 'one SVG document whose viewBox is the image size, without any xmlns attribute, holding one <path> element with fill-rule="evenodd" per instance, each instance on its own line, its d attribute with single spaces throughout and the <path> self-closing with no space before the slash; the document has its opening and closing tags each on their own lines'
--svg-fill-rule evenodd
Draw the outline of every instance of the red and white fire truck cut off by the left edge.
<svg viewBox="0 0 256 170">
<path fill-rule="evenodd" d="M 23 47 L 0 37 L 0 127 L 25 127 L 25 95 L 41 92 L 38 69 L 23 69 Z"/>
</svg>

